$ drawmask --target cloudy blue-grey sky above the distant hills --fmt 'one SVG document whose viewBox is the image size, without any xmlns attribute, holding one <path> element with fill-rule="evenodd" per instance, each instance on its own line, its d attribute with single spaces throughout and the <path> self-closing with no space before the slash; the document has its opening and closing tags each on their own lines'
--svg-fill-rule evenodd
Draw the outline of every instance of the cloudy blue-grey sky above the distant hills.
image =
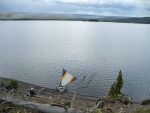
<svg viewBox="0 0 150 113">
<path fill-rule="evenodd" d="M 150 17 L 150 0 L 0 0 L 0 11 Z"/>
</svg>

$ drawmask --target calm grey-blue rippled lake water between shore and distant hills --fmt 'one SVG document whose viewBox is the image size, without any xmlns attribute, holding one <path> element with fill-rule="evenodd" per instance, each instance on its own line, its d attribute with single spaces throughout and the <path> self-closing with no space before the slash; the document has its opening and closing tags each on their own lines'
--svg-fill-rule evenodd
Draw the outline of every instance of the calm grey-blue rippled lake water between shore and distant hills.
<svg viewBox="0 0 150 113">
<path fill-rule="evenodd" d="M 80 21 L 0 21 L 0 76 L 48 88 L 62 68 L 86 76 L 79 94 L 104 96 L 122 71 L 122 92 L 150 98 L 150 25 Z"/>
</svg>

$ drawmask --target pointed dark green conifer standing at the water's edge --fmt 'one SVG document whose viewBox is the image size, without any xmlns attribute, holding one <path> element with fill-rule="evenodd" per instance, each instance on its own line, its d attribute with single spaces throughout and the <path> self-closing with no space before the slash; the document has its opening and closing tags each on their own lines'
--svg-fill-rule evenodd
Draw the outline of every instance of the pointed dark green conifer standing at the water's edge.
<svg viewBox="0 0 150 113">
<path fill-rule="evenodd" d="M 119 71 L 118 78 L 116 79 L 116 82 L 113 83 L 113 85 L 110 88 L 109 91 L 109 97 L 111 98 L 118 98 L 122 96 L 123 94 L 121 93 L 121 88 L 123 87 L 123 78 L 122 78 L 122 73 L 121 70 Z"/>
</svg>

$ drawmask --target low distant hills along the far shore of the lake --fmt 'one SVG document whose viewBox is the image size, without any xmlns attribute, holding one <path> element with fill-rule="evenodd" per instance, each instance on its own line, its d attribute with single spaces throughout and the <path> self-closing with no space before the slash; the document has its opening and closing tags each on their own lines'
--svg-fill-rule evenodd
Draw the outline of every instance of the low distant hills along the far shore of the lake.
<svg viewBox="0 0 150 113">
<path fill-rule="evenodd" d="M 20 13 L 0 11 L 0 20 L 70 20 L 150 24 L 150 17 L 117 17 L 87 14 Z"/>
</svg>

